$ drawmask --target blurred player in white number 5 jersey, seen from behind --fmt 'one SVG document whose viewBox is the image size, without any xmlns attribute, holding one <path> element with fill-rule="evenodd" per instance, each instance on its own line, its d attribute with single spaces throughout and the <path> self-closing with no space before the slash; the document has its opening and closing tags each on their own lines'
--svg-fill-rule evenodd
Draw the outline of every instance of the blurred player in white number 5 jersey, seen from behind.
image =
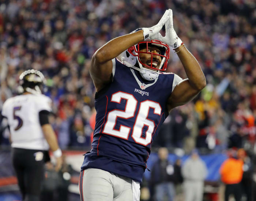
<svg viewBox="0 0 256 201">
<path fill-rule="evenodd" d="M 27 70 L 19 79 L 22 95 L 7 99 L 2 115 L 10 126 L 12 162 L 22 200 L 39 201 L 49 147 L 56 158 L 56 170 L 61 167 L 62 153 L 48 121 L 51 100 L 41 93 L 44 75 L 37 70 Z"/>
</svg>

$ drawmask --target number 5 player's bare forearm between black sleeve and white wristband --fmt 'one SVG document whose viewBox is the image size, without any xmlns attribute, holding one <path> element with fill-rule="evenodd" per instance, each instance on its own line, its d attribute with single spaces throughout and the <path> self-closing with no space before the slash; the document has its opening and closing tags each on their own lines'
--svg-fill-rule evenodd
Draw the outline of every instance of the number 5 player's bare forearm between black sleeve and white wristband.
<svg viewBox="0 0 256 201">
<path fill-rule="evenodd" d="M 56 151 L 59 149 L 59 145 L 57 142 L 56 135 L 52 129 L 52 126 L 50 124 L 45 124 L 42 126 L 42 130 L 45 136 L 46 141 L 48 142 L 50 149 L 52 151 Z"/>
</svg>

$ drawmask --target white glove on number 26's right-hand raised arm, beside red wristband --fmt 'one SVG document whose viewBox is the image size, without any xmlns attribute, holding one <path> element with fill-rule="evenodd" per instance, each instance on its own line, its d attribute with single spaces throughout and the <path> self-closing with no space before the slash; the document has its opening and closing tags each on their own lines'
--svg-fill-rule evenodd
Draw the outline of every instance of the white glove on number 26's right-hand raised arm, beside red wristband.
<svg viewBox="0 0 256 201">
<path fill-rule="evenodd" d="M 177 33 L 173 28 L 173 11 L 169 9 L 169 20 L 165 23 L 165 37 L 163 37 L 160 33 L 158 36 L 158 40 L 168 44 L 173 49 L 180 47 L 182 44 L 181 39 L 177 36 Z"/>
</svg>

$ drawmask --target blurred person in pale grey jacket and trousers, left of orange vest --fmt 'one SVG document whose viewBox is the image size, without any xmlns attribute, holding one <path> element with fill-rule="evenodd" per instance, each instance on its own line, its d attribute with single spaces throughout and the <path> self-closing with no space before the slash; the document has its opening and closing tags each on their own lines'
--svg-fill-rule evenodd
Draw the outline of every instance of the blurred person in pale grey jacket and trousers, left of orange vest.
<svg viewBox="0 0 256 201">
<path fill-rule="evenodd" d="M 192 151 L 191 157 L 181 167 L 181 173 L 184 177 L 185 201 L 202 201 L 204 179 L 207 177 L 208 171 L 196 150 Z"/>
</svg>

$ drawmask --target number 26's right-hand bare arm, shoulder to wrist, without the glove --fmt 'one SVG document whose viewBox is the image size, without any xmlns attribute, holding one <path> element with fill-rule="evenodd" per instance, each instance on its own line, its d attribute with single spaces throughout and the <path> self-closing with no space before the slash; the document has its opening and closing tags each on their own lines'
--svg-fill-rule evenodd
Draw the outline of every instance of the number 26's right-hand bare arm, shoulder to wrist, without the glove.
<svg viewBox="0 0 256 201">
<path fill-rule="evenodd" d="M 188 79 L 177 84 L 167 100 L 168 110 L 191 101 L 206 86 L 206 79 L 195 57 L 184 45 L 176 48 L 178 57 L 185 69 Z"/>
</svg>

